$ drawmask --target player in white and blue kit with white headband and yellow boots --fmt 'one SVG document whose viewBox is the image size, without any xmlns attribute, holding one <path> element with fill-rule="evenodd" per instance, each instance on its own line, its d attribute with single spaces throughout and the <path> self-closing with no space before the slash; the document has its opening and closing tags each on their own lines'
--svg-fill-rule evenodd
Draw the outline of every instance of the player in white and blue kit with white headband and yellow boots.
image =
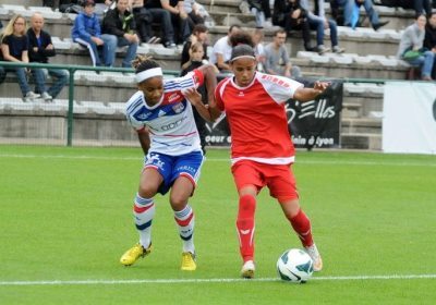
<svg viewBox="0 0 436 305">
<path fill-rule="evenodd" d="M 214 98 L 215 72 L 211 65 L 204 65 L 183 77 L 167 81 L 159 64 L 149 58 L 138 56 L 133 66 L 138 90 L 128 101 L 125 115 L 136 130 L 145 154 L 133 205 L 140 242 L 120 261 L 130 266 L 150 253 L 154 197 L 170 191 L 170 205 L 183 244 L 181 269 L 195 270 L 194 211 L 187 200 L 199 178 L 203 152 L 187 99 L 198 95 L 195 89 L 203 82 Z M 191 90 L 186 94 L 186 89 Z"/>
</svg>

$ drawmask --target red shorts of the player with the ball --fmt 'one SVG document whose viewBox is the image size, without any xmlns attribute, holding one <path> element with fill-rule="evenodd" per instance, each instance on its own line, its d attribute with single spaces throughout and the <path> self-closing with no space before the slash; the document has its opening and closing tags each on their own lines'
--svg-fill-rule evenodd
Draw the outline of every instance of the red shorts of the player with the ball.
<svg viewBox="0 0 436 305">
<path fill-rule="evenodd" d="M 290 166 L 241 160 L 232 166 L 231 171 L 238 191 L 251 184 L 257 187 L 258 193 L 266 185 L 269 194 L 280 202 L 299 198 Z"/>
</svg>

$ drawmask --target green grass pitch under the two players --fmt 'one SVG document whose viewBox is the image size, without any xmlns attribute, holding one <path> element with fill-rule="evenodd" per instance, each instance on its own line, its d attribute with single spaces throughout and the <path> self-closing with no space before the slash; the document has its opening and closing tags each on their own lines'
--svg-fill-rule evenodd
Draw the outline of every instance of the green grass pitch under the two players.
<svg viewBox="0 0 436 305">
<path fill-rule="evenodd" d="M 325 269 L 278 280 L 300 243 L 264 190 L 256 279 L 240 280 L 229 151 L 209 150 L 191 205 L 198 268 L 180 271 L 168 197 L 157 196 L 150 256 L 137 241 L 140 148 L 0 146 L 0 304 L 434 304 L 436 157 L 298 151 L 294 173 Z"/>
</svg>

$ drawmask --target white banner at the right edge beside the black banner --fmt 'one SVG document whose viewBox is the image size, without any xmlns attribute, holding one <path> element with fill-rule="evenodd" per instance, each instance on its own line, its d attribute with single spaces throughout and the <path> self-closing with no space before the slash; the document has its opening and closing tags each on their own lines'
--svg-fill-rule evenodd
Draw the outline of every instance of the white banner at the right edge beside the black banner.
<svg viewBox="0 0 436 305">
<path fill-rule="evenodd" d="M 436 154 L 436 84 L 388 82 L 383 107 L 385 152 Z"/>
</svg>

